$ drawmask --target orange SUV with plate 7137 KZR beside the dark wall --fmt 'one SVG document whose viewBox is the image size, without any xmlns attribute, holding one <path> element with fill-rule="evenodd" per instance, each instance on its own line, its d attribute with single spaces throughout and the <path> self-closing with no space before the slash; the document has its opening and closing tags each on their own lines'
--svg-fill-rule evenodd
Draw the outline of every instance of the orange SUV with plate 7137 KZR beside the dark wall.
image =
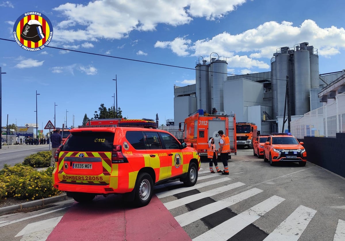
<svg viewBox="0 0 345 241">
<path fill-rule="evenodd" d="M 264 145 L 264 160 L 271 166 L 278 161 L 298 162 L 299 166 L 305 166 L 307 153 L 303 144 L 290 133 L 272 133 Z"/>
</svg>

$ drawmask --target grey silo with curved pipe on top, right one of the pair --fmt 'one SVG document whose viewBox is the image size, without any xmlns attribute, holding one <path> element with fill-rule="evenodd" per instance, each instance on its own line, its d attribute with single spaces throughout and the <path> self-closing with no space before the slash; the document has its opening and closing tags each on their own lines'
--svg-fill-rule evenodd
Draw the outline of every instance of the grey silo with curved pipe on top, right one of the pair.
<svg viewBox="0 0 345 241">
<path fill-rule="evenodd" d="M 223 89 L 224 81 L 227 80 L 227 65 L 228 63 L 224 57 L 211 58 L 211 108 L 216 108 L 218 112 L 224 111 Z"/>
</svg>

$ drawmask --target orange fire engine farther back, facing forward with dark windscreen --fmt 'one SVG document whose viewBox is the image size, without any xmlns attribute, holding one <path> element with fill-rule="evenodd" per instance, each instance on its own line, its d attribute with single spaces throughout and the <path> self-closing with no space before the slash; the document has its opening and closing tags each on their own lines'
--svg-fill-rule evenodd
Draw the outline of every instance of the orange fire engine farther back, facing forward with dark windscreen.
<svg viewBox="0 0 345 241">
<path fill-rule="evenodd" d="M 258 130 L 255 123 L 237 122 L 236 123 L 236 143 L 238 147 L 247 146 L 253 149 L 253 140 L 257 137 Z"/>
</svg>

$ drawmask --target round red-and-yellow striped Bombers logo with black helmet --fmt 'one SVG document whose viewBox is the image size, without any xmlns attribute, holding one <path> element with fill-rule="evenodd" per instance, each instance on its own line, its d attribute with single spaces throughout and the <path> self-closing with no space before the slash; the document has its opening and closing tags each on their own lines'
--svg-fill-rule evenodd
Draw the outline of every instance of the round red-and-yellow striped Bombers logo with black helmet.
<svg viewBox="0 0 345 241">
<path fill-rule="evenodd" d="M 53 37 L 53 26 L 44 14 L 26 12 L 14 23 L 13 37 L 22 49 L 38 51 L 50 43 Z"/>
</svg>

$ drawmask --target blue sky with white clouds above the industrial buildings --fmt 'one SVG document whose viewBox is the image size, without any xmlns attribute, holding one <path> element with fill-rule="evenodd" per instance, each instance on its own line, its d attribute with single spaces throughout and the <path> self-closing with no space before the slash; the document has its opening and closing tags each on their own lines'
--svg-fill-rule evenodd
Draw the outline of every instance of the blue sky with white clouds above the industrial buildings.
<svg viewBox="0 0 345 241">
<path fill-rule="evenodd" d="M 276 49 L 309 42 L 318 49 L 319 71 L 345 68 L 345 3 L 333 0 L 104 0 L 1 1 L 0 38 L 13 39 L 13 25 L 28 11 L 53 25 L 48 46 L 37 52 L 1 41 L 2 125 L 48 120 L 80 125 L 101 103 L 117 103 L 128 118 L 174 118 L 174 85 L 195 83 L 195 71 L 116 59 L 195 68 L 199 56 L 225 56 L 228 73 L 270 71 Z M 109 56 L 109 57 L 107 57 Z M 113 57 L 110 57 L 113 56 Z"/>
</svg>

